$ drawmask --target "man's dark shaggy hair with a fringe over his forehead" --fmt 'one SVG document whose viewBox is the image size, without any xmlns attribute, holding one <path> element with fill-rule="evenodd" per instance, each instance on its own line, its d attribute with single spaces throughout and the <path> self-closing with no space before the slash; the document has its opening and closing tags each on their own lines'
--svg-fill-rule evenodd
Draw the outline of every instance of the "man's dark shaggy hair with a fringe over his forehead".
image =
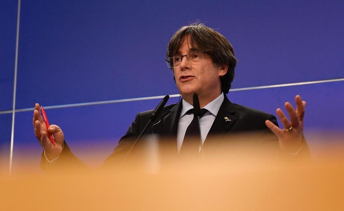
<svg viewBox="0 0 344 211">
<path fill-rule="evenodd" d="M 196 51 L 203 51 L 212 57 L 215 67 L 228 65 L 226 75 L 220 77 L 221 90 L 227 94 L 234 79 L 234 69 L 237 63 L 232 44 L 222 34 L 203 23 L 196 22 L 183 26 L 174 33 L 167 46 L 166 58 L 177 54 L 186 36 L 190 36 L 192 48 Z"/>
</svg>

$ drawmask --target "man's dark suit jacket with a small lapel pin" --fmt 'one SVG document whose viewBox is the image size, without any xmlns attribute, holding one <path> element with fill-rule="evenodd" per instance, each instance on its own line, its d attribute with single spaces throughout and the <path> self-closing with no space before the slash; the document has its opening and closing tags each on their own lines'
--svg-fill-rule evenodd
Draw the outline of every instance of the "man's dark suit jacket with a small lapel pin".
<svg viewBox="0 0 344 211">
<path fill-rule="evenodd" d="M 166 142 L 166 140 L 168 140 L 169 143 L 166 144 L 169 144 L 172 151 L 175 150 L 176 155 L 178 155 L 176 134 L 181 110 L 181 101 L 177 104 L 165 106 L 157 120 L 152 122 L 148 126 L 148 129 L 144 132 L 144 134 L 147 135 L 152 134 L 153 131 L 155 135 L 159 135 L 159 142 L 162 145 L 164 142 Z M 152 112 L 153 110 L 144 111 L 136 115 L 135 120 L 132 122 L 127 133 L 120 139 L 118 146 L 106 159 L 104 165 L 114 165 L 125 157 L 133 142 L 142 132 L 144 126 L 146 126 Z M 225 120 L 225 117 L 228 118 L 227 121 Z M 204 152 L 215 152 L 218 149 L 226 149 L 224 146 L 228 146 L 228 143 L 237 144 L 242 142 L 242 140 L 240 140 L 240 138 L 238 139 L 238 137 L 235 135 L 243 135 L 247 134 L 248 132 L 255 132 L 256 138 L 253 142 L 249 143 L 250 146 L 254 148 L 256 148 L 256 146 L 261 146 L 261 149 L 268 144 L 269 147 L 272 146 L 275 148 L 275 152 L 280 153 L 281 151 L 279 150 L 278 139 L 265 125 L 266 120 L 270 120 L 278 126 L 276 117 L 274 115 L 241 106 L 239 104 L 234 104 L 228 100 L 226 95 L 224 95 L 224 101 L 203 144 L 203 150 Z M 212 139 L 213 135 L 216 135 L 216 138 Z M 231 146 L 233 146 L 233 144 Z M 306 142 L 304 142 L 304 146 L 302 148 L 302 154 L 309 153 Z M 79 163 L 79 160 L 73 155 L 68 145 L 65 143 L 65 147 L 60 155 L 60 158 L 58 159 L 58 163 L 60 163 L 62 166 L 63 163 L 67 162 L 67 160 L 68 163 Z M 42 156 L 42 164 L 42 167 L 44 168 L 44 156 Z"/>
</svg>

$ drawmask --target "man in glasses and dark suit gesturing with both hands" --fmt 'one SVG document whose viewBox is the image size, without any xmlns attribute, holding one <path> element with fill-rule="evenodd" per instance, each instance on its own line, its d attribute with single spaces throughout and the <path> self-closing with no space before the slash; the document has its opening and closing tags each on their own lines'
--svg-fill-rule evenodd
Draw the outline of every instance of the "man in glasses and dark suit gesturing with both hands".
<svg viewBox="0 0 344 211">
<path fill-rule="evenodd" d="M 278 138 L 278 145 L 282 152 L 298 154 L 308 152 L 303 140 L 303 116 L 305 102 L 300 96 L 295 97 L 296 111 L 289 102 L 285 103 L 291 121 L 277 109 L 283 128 L 279 129 L 275 116 L 231 103 L 227 97 L 234 78 L 236 58 L 232 45 L 220 33 L 204 24 L 192 24 L 179 29 L 171 38 L 166 53 L 166 62 L 172 69 L 174 80 L 183 100 L 177 104 L 164 107 L 157 121 L 149 125 L 145 133 L 160 134 L 163 138 L 172 137 L 175 150 L 183 153 L 184 148 L 199 148 L 206 151 L 211 135 L 221 135 L 226 140 L 228 134 L 235 132 L 255 131 L 267 134 L 271 130 Z M 204 114 L 200 118 L 200 131 L 192 126 L 193 94 L 197 93 L 200 107 Z M 106 160 L 107 164 L 120 162 L 125 158 L 132 143 L 148 122 L 152 111 L 141 112 L 136 115 L 129 130 L 119 141 L 114 153 Z M 65 159 L 77 160 L 64 142 L 64 135 L 60 127 L 51 125 L 46 129 L 39 112 L 39 104 L 35 105 L 33 115 L 34 131 L 37 139 L 44 148 L 43 163 L 63 163 Z M 190 129 L 193 128 L 193 129 Z M 151 130 L 150 130 L 151 129 Z M 47 131 L 54 134 L 56 145 L 53 146 L 47 137 Z M 199 134 L 201 132 L 201 134 Z M 195 144 L 192 137 L 199 137 L 202 144 Z M 276 138 L 276 143 L 277 143 Z"/>
</svg>

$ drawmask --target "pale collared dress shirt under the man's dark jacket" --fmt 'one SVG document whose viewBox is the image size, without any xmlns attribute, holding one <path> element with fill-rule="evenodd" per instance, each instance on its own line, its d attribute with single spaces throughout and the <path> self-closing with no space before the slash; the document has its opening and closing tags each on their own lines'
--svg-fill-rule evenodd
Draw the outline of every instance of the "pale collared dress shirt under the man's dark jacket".
<svg viewBox="0 0 344 211">
<path fill-rule="evenodd" d="M 218 110 L 220 110 L 223 100 L 224 100 L 224 96 L 223 96 L 223 93 L 221 92 L 221 95 L 219 95 L 215 100 L 209 102 L 206 106 L 203 107 L 204 109 L 207 109 L 208 111 L 202 116 L 202 118 L 200 118 L 202 144 L 204 143 L 204 140 L 207 137 L 209 130 L 214 123 L 214 120 L 216 118 Z M 182 147 L 187 126 L 189 126 L 189 124 L 191 123 L 193 119 L 193 114 L 186 113 L 190 109 L 193 109 L 193 106 L 183 99 L 182 112 L 180 113 L 180 117 L 178 121 L 178 130 L 177 130 L 178 153 L 180 152 L 180 148 Z"/>
</svg>

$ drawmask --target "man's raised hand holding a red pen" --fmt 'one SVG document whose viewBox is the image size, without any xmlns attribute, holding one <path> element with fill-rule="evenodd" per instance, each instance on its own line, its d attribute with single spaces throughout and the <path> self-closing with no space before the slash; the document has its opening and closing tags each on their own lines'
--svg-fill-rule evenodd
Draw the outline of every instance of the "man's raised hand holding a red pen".
<svg viewBox="0 0 344 211">
<path fill-rule="evenodd" d="M 49 160 L 58 157 L 62 153 L 62 146 L 64 141 L 64 135 L 62 130 L 57 125 L 50 125 L 47 129 L 40 112 L 40 105 L 35 104 L 35 110 L 33 111 L 32 119 L 35 136 L 41 146 L 45 150 L 45 155 Z M 55 146 L 51 143 L 48 133 L 53 134 L 55 140 Z"/>
</svg>

